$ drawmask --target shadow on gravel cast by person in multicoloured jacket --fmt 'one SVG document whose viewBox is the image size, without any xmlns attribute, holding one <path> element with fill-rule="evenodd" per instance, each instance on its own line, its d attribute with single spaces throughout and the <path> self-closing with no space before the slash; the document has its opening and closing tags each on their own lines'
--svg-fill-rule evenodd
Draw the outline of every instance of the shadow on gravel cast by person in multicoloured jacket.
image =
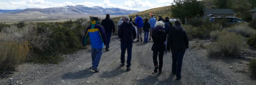
<svg viewBox="0 0 256 85">
<path fill-rule="evenodd" d="M 64 75 L 62 75 L 62 79 L 81 79 L 81 78 L 86 78 L 86 77 L 89 77 L 91 76 L 93 73 L 95 72 L 92 72 L 90 71 L 91 68 L 87 68 L 87 69 L 84 69 L 84 70 L 80 70 L 78 72 L 68 72 Z"/>
</svg>

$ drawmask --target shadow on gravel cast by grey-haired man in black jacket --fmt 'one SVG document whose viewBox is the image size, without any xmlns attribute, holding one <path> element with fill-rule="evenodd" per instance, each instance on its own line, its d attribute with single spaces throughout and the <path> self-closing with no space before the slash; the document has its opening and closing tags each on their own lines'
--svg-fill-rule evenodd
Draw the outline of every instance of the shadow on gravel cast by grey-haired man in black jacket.
<svg viewBox="0 0 256 85">
<path fill-rule="evenodd" d="M 124 66 L 120 65 L 119 67 L 117 67 L 116 69 L 114 69 L 112 71 L 105 71 L 99 77 L 101 77 L 101 78 L 113 78 L 113 77 L 118 76 L 122 73 L 125 73 L 126 72 L 125 70 L 120 69 L 122 67 L 124 67 Z"/>
</svg>

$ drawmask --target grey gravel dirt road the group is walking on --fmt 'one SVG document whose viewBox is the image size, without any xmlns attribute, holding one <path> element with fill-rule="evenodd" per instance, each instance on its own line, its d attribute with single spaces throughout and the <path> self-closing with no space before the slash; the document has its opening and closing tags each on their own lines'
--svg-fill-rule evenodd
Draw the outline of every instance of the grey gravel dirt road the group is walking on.
<svg viewBox="0 0 256 85">
<path fill-rule="evenodd" d="M 135 40 L 134 40 L 135 41 Z M 208 43 L 208 41 L 204 41 Z M 190 41 L 190 45 L 196 43 Z M 98 69 L 91 70 L 91 48 L 63 55 L 65 61 L 55 64 L 25 63 L 15 74 L 0 79 L 1 85 L 255 85 L 248 72 L 248 61 L 237 58 L 209 58 L 206 49 L 189 49 L 183 58 L 182 79 L 171 74 L 171 53 L 164 53 L 162 74 L 152 74 L 153 42 L 134 42 L 131 70 L 120 66 L 120 40 L 112 36 L 110 51 L 102 54 Z M 127 53 L 126 53 L 127 58 Z M 126 62 L 125 62 L 126 65 Z M 13 79 L 11 79 L 13 78 Z"/>
</svg>

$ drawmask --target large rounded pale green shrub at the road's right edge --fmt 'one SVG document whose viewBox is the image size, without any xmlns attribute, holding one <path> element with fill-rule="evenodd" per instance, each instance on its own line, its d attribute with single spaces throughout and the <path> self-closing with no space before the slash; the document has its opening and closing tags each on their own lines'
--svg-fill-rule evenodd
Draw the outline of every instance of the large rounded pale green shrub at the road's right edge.
<svg viewBox="0 0 256 85">
<path fill-rule="evenodd" d="M 239 53 L 243 46 L 243 37 L 232 32 L 220 35 L 217 42 L 209 45 L 207 54 L 209 56 L 233 56 Z"/>
</svg>

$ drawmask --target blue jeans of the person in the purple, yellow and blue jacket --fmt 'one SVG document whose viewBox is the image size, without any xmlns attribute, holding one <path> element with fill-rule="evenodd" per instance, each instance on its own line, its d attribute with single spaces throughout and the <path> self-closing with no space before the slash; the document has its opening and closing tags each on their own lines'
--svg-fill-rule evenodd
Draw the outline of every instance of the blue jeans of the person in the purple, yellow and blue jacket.
<svg viewBox="0 0 256 85">
<path fill-rule="evenodd" d="M 92 48 L 92 67 L 93 68 L 97 69 L 99 62 L 100 62 L 102 52 L 103 52 L 102 48 L 99 48 L 99 49 Z"/>
</svg>

